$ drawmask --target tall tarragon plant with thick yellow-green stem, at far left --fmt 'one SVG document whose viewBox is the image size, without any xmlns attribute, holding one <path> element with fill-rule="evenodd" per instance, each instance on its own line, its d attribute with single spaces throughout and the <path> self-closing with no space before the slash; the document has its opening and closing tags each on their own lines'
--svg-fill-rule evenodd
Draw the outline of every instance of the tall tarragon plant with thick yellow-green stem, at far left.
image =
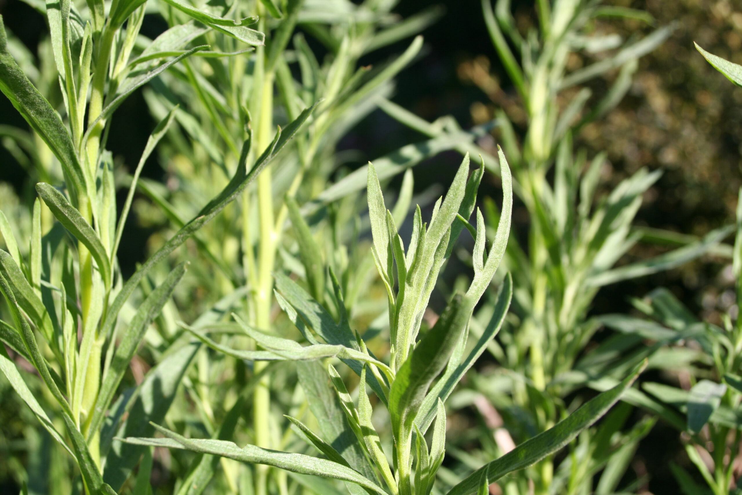
<svg viewBox="0 0 742 495">
<path fill-rule="evenodd" d="M 146 433 L 150 429 L 146 421 L 161 420 L 168 410 L 198 348 L 168 349 L 168 356 L 135 390 L 134 398 L 129 393 L 112 407 L 116 389 L 149 324 L 168 301 L 186 265 L 177 265 L 157 288 L 148 291 L 125 329 L 117 332 L 119 312 L 148 271 L 237 198 L 315 109 L 312 104 L 300 111 L 249 163 L 251 140 L 241 136 L 243 153 L 234 162 L 229 182 L 124 282 L 116 253 L 136 179 L 118 215 L 114 170 L 103 151 L 107 123 L 128 95 L 178 62 L 197 53 L 226 56 L 206 50 L 206 45 L 162 51 L 153 44 L 147 47 L 148 53 L 131 59 L 145 13 L 143 4 L 114 1 L 107 10 L 102 1 L 92 0 L 82 12 L 70 1 L 34 4 L 45 11 L 50 25 L 62 91 L 62 102 L 56 108 L 14 59 L 14 45 L 0 18 L 0 90 L 33 132 L 31 136 L 19 130 L 15 136 L 36 143 L 36 153 L 30 155 L 39 160 L 33 165 L 39 176 L 54 183 L 36 185 L 39 198 L 33 207 L 30 239 L 20 239 L 30 244 L 27 250 L 19 248 L 13 226 L 0 216 L 7 247 L 0 251 L 0 290 L 12 317 L 10 323 L 1 324 L 1 336 L 39 373 L 58 421 L 49 418 L 30 392 L 4 347 L 0 350 L 2 370 L 50 436 L 70 453 L 85 491 L 91 494 L 111 493 L 112 485 L 118 490 L 139 462 L 141 451 L 111 451 L 123 413 L 128 411 L 124 430 Z M 248 27 L 257 22 L 255 17 L 235 21 L 222 17 L 226 10 L 218 7 L 201 10 L 176 0 L 168 6 L 187 16 L 186 24 L 188 19 L 199 22 L 204 33 L 225 33 L 243 48 L 264 44 L 263 33 Z M 171 111 L 151 135 L 139 169 L 173 117 Z M 42 219 L 46 219 L 44 224 Z M 20 254 L 24 251 L 25 259 Z"/>
</svg>

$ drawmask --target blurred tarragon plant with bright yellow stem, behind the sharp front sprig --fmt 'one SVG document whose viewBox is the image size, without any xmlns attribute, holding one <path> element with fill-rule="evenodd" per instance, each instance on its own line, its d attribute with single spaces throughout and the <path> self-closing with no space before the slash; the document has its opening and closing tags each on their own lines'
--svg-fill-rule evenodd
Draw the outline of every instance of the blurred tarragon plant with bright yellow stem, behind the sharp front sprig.
<svg viewBox="0 0 742 495">
<path fill-rule="evenodd" d="M 338 245 L 338 236 L 332 236 L 331 244 L 321 245 L 311 253 L 302 249 L 301 256 L 294 240 L 301 247 L 309 245 L 311 236 L 306 235 L 309 226 L 304 219 L 309 213 L 312 217 L 307 221 L 312 226 L 328 217 L 331 224 L 352 218 L 355 205 L 351 203 L 355 203 L 364 182 L 351 184 L 345 180 L 349 177 L 343 178 L 342 172 L 338 173 L 343 158 L 335 148 L 358 120 L 375 109 L 378 100 L 390 96 L 393 77 L 418 56 L 422 39 L 419 36 L 412 39 L 404 53 L 374 67 L 357 67 L 358 59 L 415 34 L 438 16 L 438 10 L 433 9 L 410 19 L 398 19 L 391 13 L 393 7 L 394 2 L 383 1 L 360 5 L 349 1 L 289 1 L 278 10 L 258 2 L 241 4 L 240 8 L 248 12 L 262 10 L 264 16 L 258 26 L 269 39 L 266 47 L 258 47 L 255 56 L 249 58 L 191 60 L 162 74 L 144 93 L 157 119 L 163 118 L 174 105 L 179 106 L 174 113 L 177 125 L 163 139 L 161 149 L 165 150 L 162 163 L 168 170 L 168 180 L 180 187 L 165 188 L 154 181 L 139 181 L 139 189 L 154 203 L 152 210 L 161 210 L 168 227 L 176 228 L 185 221 L 185 212 L 197 213 L 194 205 L 213 195 L 214 189 L 229 180 L 224 170 L 231 169 L 240 159 L 240 149 L 235 143 L 240 142 L 245 132 L 247 118 L 252 138 L 247 161 L 252 163 L 257 152 L 269 146 L 274 123 L 283 125 L 305 106 L 321 101 L 307 123 L 306 132 L 298 136 L 296 146 L 262 172 L 257 187 L 243 193 L 240 207 L 225 211 L 199 233 L 195 239 L 197 254 L 180 253 L 182 259 L 193 262 L 198 270 L 197 276 L 185 283 L 207 292 L 209 302 L 230 301 L 229 306 L 224 306 L 226 312 L 234 309 L 249 325 L 263 331 L 278 335 L 290 331 L 286 329 L 286 320 L 275 320 L 274 271 L 286 270 L 308 277 L 312 296 L 324 302 L 329 279 L 315 258 L 321 260 L 325 251 L 326 262 L 335 269 L 347 294 L 349 311 L 354 301 L 364 296 L 364 282 L 369 279 L 364 273 L 373 268 L 370 256 L 364 258 L 367 262 L 361 266 L 350 267 L 348 256 L 353 256 L 353 250 L 350 253 L 343 250 Z M 295 28 L 301 28 L 303 33 L 295 33 Z M 154 42 L 172 39 L 168 33 L 174 30 L 183 28 L 174 22 Z M 191 31 L 188 39 L 176 40 L 194 43 L 192 39 L 198 39 L 203 28 L 193 26 Z M 305 34 L 324 45 L 329 52 L 324 59 L 310 48 Z M 215 36 L 217 45 L 234 53 L 232 39 Z M 243 75 L 246 71 L 247 77 Z M 298 80 L 294 74 L 300 76 Z M 457 136 L 459 140 L 466 138 L 464 133 Z M 380 169 L 412 166 L 437 151 L 395 153 L 376 163 Z M 400 156 L 406 160 L 400 161 Z M 332 178 L 338 175 L 340 180 L 332 184 Z M 300 211 L 298 201 L 304 202 L 306 198 L 312 201 Z M 292 226 L 298 235 L 296 239 L 287 239 L 285 234 Z M 298 258 L 305 262 L 306 268 Z M 200 320 L 194 327 L 203 328 L 206 323 L 214 322 Z M 235 349 L 255 346 L 255 340 L 245 338 L 242 331 L 224 326 L 222 330 L 231 332 L 225 340 Z M 177 331 L 171 332 L 171 337 L 174 335 Z M 220 343 L 226 344 L 225 340 L 220 339 Z M 290 374 L 277 377 L 272 372 L 261 374 L 264 364 L 258 362 L 253 369 L 256 375 L 261 375 L 261 381 L 252 397 L 252 438 L 260 447 L 280 448 L 291 436 L 283 431 L 288 426 L 286 421 L 277 418 L 272 409 L 294 399 L 287 391 L 295 389 L 295 377 Z M 204 421 L 207 430 L 213 430 L 215 417 L 221 409 L 227 409 L 221 404 L 240 390 L 239 386 L 207 387 L 205 383 L 220 381 L 223 372 L 237 369 L 238 373 L 244 365 L 241 360 L 229 359 L 216 363 L 204 360 L 203 365 L 199 361 L 197 366 L 199 372 L 203 370 L 200 375 L 203 383 L 194 387 L 193 398 L 204 411 L 197 421 Z M 288 489 L 286 476 L 281 477 L 280 473 L 277 479 L 269 479 L 268 470 L 258 467 L 255 474 L 257 493 L 266 491 L 274 481 L 282 490 Z"/>
</svg>

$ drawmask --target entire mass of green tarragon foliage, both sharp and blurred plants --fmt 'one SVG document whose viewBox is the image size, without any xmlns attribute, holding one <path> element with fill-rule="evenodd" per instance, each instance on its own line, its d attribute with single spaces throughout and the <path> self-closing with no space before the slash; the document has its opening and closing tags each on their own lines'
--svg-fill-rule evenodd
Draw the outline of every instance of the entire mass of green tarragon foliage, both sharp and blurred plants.
<svg viewBox="0 0 742 495">
<path fill-rule="evenodd" d="M 505 109 L 466 131 L 388 99 L 436 9 L 401 19 L 384 0 L 27 3 L 49 27 L 38 66 L 0 16 L 0 91 L 28 124 L 0 130 L 38 181 L 30 210 L 0 211 L 2 406 L 27 426 L 26 455 L 3 445 L 0 459 L 23 493 L 607 495 L 640 488 L 628 470 L 656 421 L 683 433 L 713 493 L 729 493 L 737 315 L 700 323 L 662 288 L 634 301 L 651 320 L 591 313 L 601 287 L 706 253 L 742 278 L 742 208 L 703 239 L 636 229 L 660 172 L 598 195 L 605 155 L 574 149 L 674 26 L 623 42 L 594 20 L 651 17 L 539 0 L 537 28 L 522 33 L 510 1 L 482 0 L 525 127 Z M 167 22 L 156 39 L 139 32 L 145 14 Z M 403 53 L 359 66 L 402 40 Z M 699 50 L 740 84 L 742 68 Z M 569 69 L 585 51 L 605 56 Z M 587 85 L 611 71 L 591 98 Z M 106 142 L 139 88 L 159 123 L 129 175 Z M 426 140 L 344 169 L 338 143 L 375 109 Z M 489 153 L 478 138 L 493 129 L 502 149 Z M 172 183 L 141 177 L 156 150 Z M 413 167 L 446 150 L 463 159 L 444 195 L 413 197 Z M 384 188 L 403 172 L 389 207 Z M 490 175 L 502 201 L 479 195 Z M 525 239 L 511 232 L 516 201 Z M 166 226 L 125 277 L 132 209 Z M 620 264 L 639 242 L 680 247 Z M 466 270 L 447 286 L 452 259 Z M 474 366 L 485 352 L 497 366 Z M 635 386 L 645 369 L 683 369 L 692 384 Z M 482 421 L 448 421 L 465 414 Z M 672 469 L 686 493 L 706 493 L 697 473 Z"/>
</svg>

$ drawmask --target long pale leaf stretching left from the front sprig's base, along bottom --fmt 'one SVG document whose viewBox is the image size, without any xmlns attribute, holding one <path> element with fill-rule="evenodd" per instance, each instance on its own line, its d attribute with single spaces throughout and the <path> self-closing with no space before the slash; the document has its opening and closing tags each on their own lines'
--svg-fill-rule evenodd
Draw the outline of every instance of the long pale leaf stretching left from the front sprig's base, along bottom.
<svg viewBox="0 0 742 495">
<path fill-rule="evenodd" d="M 154 447 L 191 450 L 193 452 L 222 456 L 240 462 L 278 467 L 294 473 L 313 474 L 324 478 L 341 479 L 343 481 L 355 483 L 364 488 L 370 488 L 379 495 L 387 494 L 383 488 L 379 487 L 369 479 L 364 478 L 364 476 L 361 476 L 357 471 L 326 459 L 318 459 L 316 457 L 305 456 L 298 453 L 266 450 L 249 444 L 240 448 L 231 441 L 186 439 L 185 437 L 167 430 L 166 428 L 157 425 L 154 425 L 154 427 L 167 438 L 143 439 L 128 437 L 125 441 L 128 444 L 135 445 L 150 445 Z"/>
</svg>

